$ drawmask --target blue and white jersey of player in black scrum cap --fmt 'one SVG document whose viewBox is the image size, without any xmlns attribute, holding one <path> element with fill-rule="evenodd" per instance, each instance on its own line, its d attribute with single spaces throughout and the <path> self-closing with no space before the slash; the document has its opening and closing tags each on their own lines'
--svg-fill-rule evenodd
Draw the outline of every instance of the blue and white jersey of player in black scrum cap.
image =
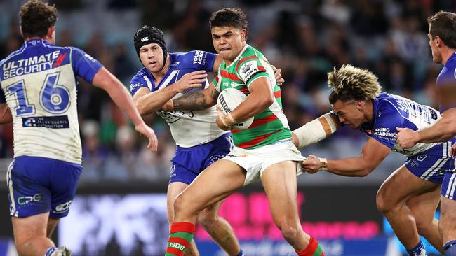
<svg viewBox="0 0 456 256">
<path fill-rule="evenodd" d="M 152 73 L 143 68 L 136 73 L 130 82 L 131 94 L 135 95 L 141 87 L 147 87 L 151 92 L 163 90 L 163 88 L 176 83 L 186 73 L 193 71 L 205 70 L 212 72 L 215 62 L 215 54 L 200 50 L 170 53 L 169 58 L 170 68 L 158 85 L 154 83 Z M 206 80 L 206 85 L 203 87 L 179 93 L 173 99 L 208 86 L 209 83 Z M 168 122 L 171 135 L 176 144 L 182 148 L 208 143 L 228 132 L 222 131 L 215 124 L 215 119 L 217 118 L 215 106 L 203 111 L 157 111 L 157 113 Z"/>
</svg>

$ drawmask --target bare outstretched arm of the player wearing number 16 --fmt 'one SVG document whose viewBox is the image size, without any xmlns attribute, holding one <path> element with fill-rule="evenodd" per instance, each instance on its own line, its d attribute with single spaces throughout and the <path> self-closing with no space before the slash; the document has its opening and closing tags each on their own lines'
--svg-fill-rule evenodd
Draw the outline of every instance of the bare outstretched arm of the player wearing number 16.
<svg viewBox="0 0 456 256">
<path fill-rule="evenodd" d="M 140 113 L 138 113 L 130 93 L 128 93 L 126 87 L 122 85 L 121 81 L 119 81 L 119 79 L 112 75 L 112 73 L 110 73 L 107 69 L 102 67 L 95 74 L 92 83 L 109 94 L 109 97 L 111 97 L 114 103 L 119 106 L 119 108 L 121 108 L 121 110 L 128 115 L 128 118 L 133 121 L 133 124 L 135 124 L 135 130 L 149 139 L 147 148 L 150 148 L 152 152 L 156 152 L 158 141 L 154 130 L 142 121 Z"/>
</svg>

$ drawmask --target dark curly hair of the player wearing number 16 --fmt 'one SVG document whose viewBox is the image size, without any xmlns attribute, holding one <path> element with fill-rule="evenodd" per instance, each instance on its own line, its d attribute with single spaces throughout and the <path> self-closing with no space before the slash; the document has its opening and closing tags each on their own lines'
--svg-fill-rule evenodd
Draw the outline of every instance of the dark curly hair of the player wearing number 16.
<svg viewBox="0 0 456 256">
<path fill-rule="evenodd" d="M 24 38 L 42 37 L 57 21 L 57 9 L 48 3 L 30 0 L 20 8 L 19 16 Z"/>
</svg>

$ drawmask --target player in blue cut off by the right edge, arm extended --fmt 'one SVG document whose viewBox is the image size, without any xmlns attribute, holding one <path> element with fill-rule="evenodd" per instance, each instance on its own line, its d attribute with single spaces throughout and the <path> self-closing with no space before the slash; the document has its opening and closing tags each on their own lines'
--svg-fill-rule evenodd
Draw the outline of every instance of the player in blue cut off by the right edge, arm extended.
<svg viewBox="0 0 456 256">
<path fill-rule="evenodd" d="M 417 131 L 398 129 L 397 141 L 403 148 L 411 148 L 416 143 L 446 141 L 456 135 L 456 13 L 440 11 L 428 17 L 427 23 L 432 59 L 444 65 L 436 83 L 442 117 L 434 125 Z M 452 155 L 455 150 L 456 144 L 453 144 Z M 456 256 L 456 170 L 445 173 L 441 195 L 438 228 L 443 236 L 445 255 Z"/>
</svg>

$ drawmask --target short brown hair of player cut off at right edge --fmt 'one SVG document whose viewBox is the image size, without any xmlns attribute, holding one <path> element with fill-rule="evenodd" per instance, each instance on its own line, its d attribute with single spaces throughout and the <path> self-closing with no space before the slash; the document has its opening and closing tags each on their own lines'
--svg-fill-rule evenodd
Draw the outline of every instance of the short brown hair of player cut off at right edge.
<svg viewBox="0 0 456 256">
<path fill-rule="evenodd" d="M 443 10 L 427 18 L 429 34 L 440 37 L 449 48 L 456 48 L 456 14 Z"/>
</svg>

